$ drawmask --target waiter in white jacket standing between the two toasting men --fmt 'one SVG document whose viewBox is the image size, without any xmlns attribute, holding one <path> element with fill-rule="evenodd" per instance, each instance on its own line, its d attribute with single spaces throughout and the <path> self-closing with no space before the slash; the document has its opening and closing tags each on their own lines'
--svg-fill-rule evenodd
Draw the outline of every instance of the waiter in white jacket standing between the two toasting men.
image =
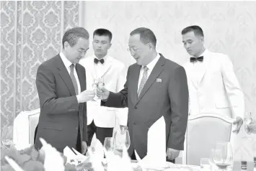
<svg viewBox="0 0 256 171">
<path fill-rule="evenodd" d="M 80 60 L 87 77 L 87 89 L 93 88 L 94 80 L 102 78 L 105 88 L 113 92 L 123 89 L 126 80 L 125 65 L 107 55 L 111 47 L 112 33 L 107 29 L 96 29 L 93 33 L 94 55 Z M 127 125 L 128 108 L 109 108 L 100 106 L 100 99 L 87 102 L 88 145 L 96 133 L 97 139 L 104 144 L 105 137 L 112 137 L 113 128 L 119 122 L 120 126 Z"/>
</svg>

